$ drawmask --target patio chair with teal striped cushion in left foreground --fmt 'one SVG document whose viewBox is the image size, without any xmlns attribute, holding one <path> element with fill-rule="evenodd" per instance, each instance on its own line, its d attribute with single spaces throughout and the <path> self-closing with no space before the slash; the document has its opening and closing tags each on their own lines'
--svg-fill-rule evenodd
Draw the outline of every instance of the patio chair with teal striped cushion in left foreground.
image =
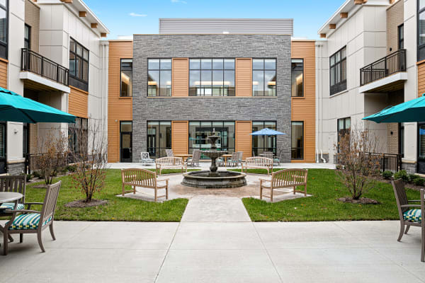
<svg viewBox="0 0 425 283">
<path fill-rule="evenodd" d="M 29 202 L 28 209 L 13 210 L 13 215 L 10 221 L 4 226 L 3 235 L 3 255 L 7 255 L 8 241 L 7 238 L 10 234 L 19 234 L 20 243 L 23 242 L 24 233 L 37 233 L 38 245 L 45 252 L 45 248 L 42 246 L 41 233 L 44 229 L 49 227 L 50 235 L 53 241 L 56 240 L 55 233 L 53 232 L 53 220 L 55 217 L 55 208 L 57 203 L 57 197 L 59 195 L 60 185 L 62 181 L 54 185 L 49 185 L 46 190 L 44 202 Z M 31 205 L 42 205 L 40 212 L 36 210 L 30 210 Z M 18 216 L 16 214 L 19 214 Z"/>
</svg>

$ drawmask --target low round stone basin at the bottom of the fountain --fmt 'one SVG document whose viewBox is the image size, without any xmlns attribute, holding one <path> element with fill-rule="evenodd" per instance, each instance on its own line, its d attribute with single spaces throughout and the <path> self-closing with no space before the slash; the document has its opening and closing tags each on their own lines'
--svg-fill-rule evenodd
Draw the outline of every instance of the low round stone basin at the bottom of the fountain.
<svg viewBox="0 0 425 283">
<path fill-rule="evenodd" d="M 181 185 L 203 189 L 224 189 L 246 185 L 246 174 L 233 171 L 193 171 L 183 173 Z"/>
</svg>

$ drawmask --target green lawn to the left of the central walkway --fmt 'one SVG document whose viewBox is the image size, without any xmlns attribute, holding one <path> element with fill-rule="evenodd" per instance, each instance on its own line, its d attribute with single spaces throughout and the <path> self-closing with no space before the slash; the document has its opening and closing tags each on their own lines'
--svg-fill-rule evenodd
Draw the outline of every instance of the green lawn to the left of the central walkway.
<svg viewBox="0 0 425 283">
<path fill-rule="evenodd" d="M 179 170 L 164 170 L 167 173 L 178 173 Z M 94 198 L 108 200 L 108 204 L 98 207 L 69 208 L 64 204 L 74 200 L 84 199 L 81 192 L 70 187 L 70 177 L 65 176 L 54 180 L 62 180 L 55 219 L 79 221 L 180 221 L 188 200 L 177 199 L 163 203 L 132 200 L 124 197 L 115 197 L 122 192 L 120 170 L 109 169 L 106 175 L 105 188 L 94 195 Z M 33 188 L 35 184 L 27 186 L 26 202 L 42 202 L 45 189 Z M 128 187 L 130 190 L 131 188 Z M 41 207 L 32 207 L 41 209 Z"/>
</svg>

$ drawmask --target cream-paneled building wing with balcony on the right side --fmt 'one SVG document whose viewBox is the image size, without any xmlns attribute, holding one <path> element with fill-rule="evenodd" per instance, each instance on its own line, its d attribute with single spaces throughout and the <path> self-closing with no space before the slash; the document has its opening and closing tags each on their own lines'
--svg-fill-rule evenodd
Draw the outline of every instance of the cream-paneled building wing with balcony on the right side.
<svg viewBox="0 0 425 283">
<path fill-rule="evenodd" d="M 418 0 L 347 0 L 319 29 L 317 149 L 326 158 L 334 160 L 339 133 L 363 125 L 380 153 L 425 173 L 425 124 L 361 121 L 425 93 L 424 11 Z"/>
</svg>

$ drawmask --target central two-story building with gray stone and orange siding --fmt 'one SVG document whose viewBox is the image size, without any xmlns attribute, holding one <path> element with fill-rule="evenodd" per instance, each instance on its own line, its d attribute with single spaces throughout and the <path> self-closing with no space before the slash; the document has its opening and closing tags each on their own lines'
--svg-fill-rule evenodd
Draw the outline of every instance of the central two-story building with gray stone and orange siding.
<svg viewBox="0 0 425 283">
<path fill-rule="evenodd" d="M 314 41 L 292 19 L 160 19 L 159 34 L 111 40 L 108 161 L 220 148 L 314 162 Z M 252 137 L 265 127 L 285 135 Z"/>
</svg>

